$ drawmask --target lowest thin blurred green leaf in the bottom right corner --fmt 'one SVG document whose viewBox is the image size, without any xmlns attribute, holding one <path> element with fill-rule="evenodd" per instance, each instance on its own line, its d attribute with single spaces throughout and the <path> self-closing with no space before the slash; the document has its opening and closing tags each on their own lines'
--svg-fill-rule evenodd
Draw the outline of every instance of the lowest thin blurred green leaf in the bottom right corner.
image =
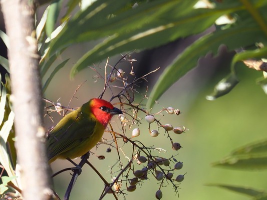
<svg viewBox="0 0 267 200">
<path fill-rule="evenodd" d="M 252 196 L 252 197 L 267 194 L 265 191 L 260 191 L 260 190 L 254 189 L 254 188 L 243 187 L 243 186 L 233 186 L 233 185 L 228 185 L 228 184 L 207 184 L 207 185 L 208 186 L 221 187 L 224 189 L 228 189 L 230 191 L 235 191 L 235 192 L 238 192 L 240 194 L 245 194 L 245 195 Z"/>
</svg>

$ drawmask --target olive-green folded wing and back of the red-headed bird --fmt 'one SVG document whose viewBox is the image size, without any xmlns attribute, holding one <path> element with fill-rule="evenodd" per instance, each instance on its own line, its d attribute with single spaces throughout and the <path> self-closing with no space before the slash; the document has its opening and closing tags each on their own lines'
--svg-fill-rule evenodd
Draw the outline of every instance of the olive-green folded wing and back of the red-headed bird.
<svg viewBox="0 0 267 200">
<path fill-rule="evenodd" d="M 51 160 L 75 148 L 95 132 L 96 120 L 79 110 L 67 114 L 47 137 L 47 154 Z"/>
</svg>

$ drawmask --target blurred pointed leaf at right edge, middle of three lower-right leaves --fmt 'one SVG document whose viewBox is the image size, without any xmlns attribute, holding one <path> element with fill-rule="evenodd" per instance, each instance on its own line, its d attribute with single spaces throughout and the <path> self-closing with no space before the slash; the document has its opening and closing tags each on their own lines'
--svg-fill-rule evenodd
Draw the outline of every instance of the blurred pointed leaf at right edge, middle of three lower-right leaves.
<svg viewBox="0 0 267 200">
<path fill-rule="evenodd" d="M 220 161 L 212 163 L 212 165 L 216 167 L 226 167 L 230 169 L 262 170 L 267 169 L 267 154 L 228 156 Z"/>
</svg>

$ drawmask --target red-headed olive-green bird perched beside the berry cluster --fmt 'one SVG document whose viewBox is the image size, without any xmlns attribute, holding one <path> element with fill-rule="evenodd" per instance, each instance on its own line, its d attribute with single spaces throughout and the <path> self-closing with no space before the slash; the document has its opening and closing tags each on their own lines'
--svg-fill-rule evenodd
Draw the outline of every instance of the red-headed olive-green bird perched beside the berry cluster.
<svg viewBox="0 0 267 200">
<path fill-rule="evenodd" d="M 64 116 L 46 138 L 49 163 L 84 155 L 102 138 L 113 115 L 122 114 L 110 102 L 92 98 Z"/>
</svg>

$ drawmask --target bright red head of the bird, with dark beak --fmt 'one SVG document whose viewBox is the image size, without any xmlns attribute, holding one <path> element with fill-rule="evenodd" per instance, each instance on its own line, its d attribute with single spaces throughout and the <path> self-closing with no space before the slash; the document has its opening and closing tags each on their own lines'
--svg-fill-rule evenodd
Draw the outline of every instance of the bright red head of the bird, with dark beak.
<svg viewBox="0 0 267 200">
<path fill-rule="evenodd" d="M 107 127 L 108 122 L 114 114 L 122 113 L 120 109 L 114 107 L 110 102 L 100 98 L 92 98 L 90 100 L 90 107 L 96 119 L 102 123 L 104 127 Z"/>
</svg>

